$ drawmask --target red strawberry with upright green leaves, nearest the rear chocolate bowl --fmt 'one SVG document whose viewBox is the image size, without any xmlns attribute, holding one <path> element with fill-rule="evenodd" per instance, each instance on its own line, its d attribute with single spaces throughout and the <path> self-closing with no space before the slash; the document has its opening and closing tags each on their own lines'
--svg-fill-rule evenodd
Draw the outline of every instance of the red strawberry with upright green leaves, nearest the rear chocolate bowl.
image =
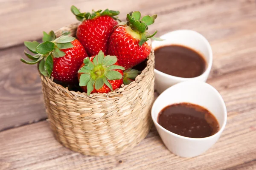
<svg viewBox="0 0 256 170">
<path fill-rule="evenodd" d="M 157 15 L 146 15 L 140 20 L 140 12 L 127 14 L 127 23 L 120 23 L 109 38 L 108 54 L 115 55 L 119 65 L 125 69 L 143 62 L 151 51 L 151 46 L 146 42 L 149 38 L 160 40 L 150 35 L 146 30 L 154 23 Z"/>
</svg>

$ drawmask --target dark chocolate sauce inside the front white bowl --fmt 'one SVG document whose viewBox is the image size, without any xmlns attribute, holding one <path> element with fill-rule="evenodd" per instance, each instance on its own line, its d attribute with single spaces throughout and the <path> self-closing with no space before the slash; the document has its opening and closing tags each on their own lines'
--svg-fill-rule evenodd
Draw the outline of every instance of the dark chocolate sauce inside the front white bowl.
<svg viewBox="0 0 256 170">
<path fill-rule="evenodd" d="M 199 105 L 177 103 L 160 111 L 157 122 L 166 130 L 190 138 L 212 136 L 219 130 L 215 116 Z"/>
</svg>

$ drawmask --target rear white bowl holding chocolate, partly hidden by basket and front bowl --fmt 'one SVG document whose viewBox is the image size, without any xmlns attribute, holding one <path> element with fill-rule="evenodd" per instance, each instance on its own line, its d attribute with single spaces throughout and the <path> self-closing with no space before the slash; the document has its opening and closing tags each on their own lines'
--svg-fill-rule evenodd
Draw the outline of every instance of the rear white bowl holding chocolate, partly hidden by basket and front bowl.
<svg viewBox="0 0 256 170">
<path fill-rule="evenodd" d="M 179 82 L 187 80 L 206 82 L 212 67 L 212 48 L 204 36 L 192 30 L 177 30 L 164 34 L 160 38 L 164 39 L 164 41 L 153 41 L 153 49 L 166 45 L 183 45 L 192 48 L 204 56 L 204 59 L 207 62 L 207 69 L 200 76 L 193 78 L 175 77 L 154 69 L 155 89 L 159 94 Z"/>
</svg>

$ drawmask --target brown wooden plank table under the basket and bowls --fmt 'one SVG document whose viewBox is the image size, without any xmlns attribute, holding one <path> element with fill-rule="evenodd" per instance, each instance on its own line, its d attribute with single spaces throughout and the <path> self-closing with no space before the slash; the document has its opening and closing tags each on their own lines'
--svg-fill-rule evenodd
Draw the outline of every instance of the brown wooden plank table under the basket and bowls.
<svg viewBox="0 0 256 170">
<path fill-rule="evenodd" d="M 154 127 L 137 147 L 116 156 L 83 156 L 62 147 L 49 129 L 36 67 L 19 59 L 23 57 L 24 40 L 39 39 L 42 31 L 75 22 L 69 11 L 71 3 L 2 0 L 0 170 L 256 170 L 256 1 L 115 2 L 73 1 L 82 11 L 105 6 L 120 10 L 121 19 L 132 10 L 157 13 L 151 30 L 158 29 L 158 35 L 192 29 L 209 40 L 213 65 L 207 82 L 223 96 L 228 111 L 221 138 L 206 153 L 190 159 L 170 153 Z"/>
</svg>

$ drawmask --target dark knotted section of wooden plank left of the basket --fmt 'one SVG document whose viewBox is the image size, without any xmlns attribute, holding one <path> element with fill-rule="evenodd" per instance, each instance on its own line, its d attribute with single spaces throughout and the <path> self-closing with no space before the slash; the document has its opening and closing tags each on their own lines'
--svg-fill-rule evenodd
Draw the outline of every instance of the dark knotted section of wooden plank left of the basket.
<svg viewBox="0 0 256 170">
<path fill-rule="evenodd" d="M 0 51 L 0 130 L 46 118 L 37 68 L 19 60 L 24 49 Z"/>
</svg>

